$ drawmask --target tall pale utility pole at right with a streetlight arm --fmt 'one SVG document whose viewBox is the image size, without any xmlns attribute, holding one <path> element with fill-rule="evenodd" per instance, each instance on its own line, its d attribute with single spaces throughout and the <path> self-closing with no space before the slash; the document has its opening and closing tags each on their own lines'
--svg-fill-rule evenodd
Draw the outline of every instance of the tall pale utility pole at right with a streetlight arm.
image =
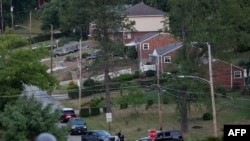
<svg viewBox="0 0 250 141">
<path fill-rule="evenodd" d="M 216 108 L 215 108 L 215 99 L 214 99 L 214 85 L 213 85 L 213 72 L 212 72 L 212 57 L 211 57 L 211 47 L 207 42 L 208 47 L 208 61 L 209 61 L 209 84 L 211 91 L 211 101 L 212 101 L 212 112 L 213 112 L 213 127 L 214 127 L 214 136 L 217 137 L 217 120 L 216 120 Z"/>
</svg>

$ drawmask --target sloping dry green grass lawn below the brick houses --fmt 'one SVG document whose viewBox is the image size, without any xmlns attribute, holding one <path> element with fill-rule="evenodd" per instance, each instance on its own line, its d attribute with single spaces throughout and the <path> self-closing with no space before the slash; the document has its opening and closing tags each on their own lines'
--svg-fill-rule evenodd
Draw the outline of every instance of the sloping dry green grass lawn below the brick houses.
<svg viewBox="0 0 250 141">
<path fill-rule="evenodd" d="M 153 97 L 157 98 L 155 93 Z M 228 94 L 230 95 L 230 94 Z M 105 94 L 96 94 L 82 98 L 82 103 L 89 101 L 94 97 L 105 97 Z M 234 96 L 234 97 L 233 97 Z M 127 141 L 135 141 L 136 139 L 147 136 L 149 129 L 159 129 L 159 114 L 157 103 L 154 108 L 145 109 L 144 104 L 138 107 L 129 105 L 127 109 L 120 109 L 118 104 L 115 104 L 117 98 L 120 97 L 118 91 L 111 92 L 112 104 L 112 122 L 107 123 L 105 113 L 99 116 L 84 117 L 88 123 L 89 129 L 105 129 L 112 134 L 121 129 Z M 232 97 L 232 99 L 231 99 Z M 210 99 L 209 99 L 210 100 Z M 78 99 L 61 101 L 65 106 L 70 106 L 78 109 Z M 230 95 L 228 98 L 216 98 L 217 109 L 217 127 L 218 135 L 223 135 L 224 124 L 249 124 L 250 123 L 250 96 L 236 97 L 236 94 Z M 213 136 L 213 121 L 202 120 L 202 115 L 207 110 L 205 106 L 199 108 L 191 106 L 188 113 L 188 128 L 187 133 L 183 133 L 185 140 L 198 140 L 208 136 Z M 176 104 L 162 104 L 162 121 L 163 129 L 180 129 L 179 114 L 176 112 Z M 193 126 L 201 126 L 202 128 L 195 129 Z"/>
</svg>

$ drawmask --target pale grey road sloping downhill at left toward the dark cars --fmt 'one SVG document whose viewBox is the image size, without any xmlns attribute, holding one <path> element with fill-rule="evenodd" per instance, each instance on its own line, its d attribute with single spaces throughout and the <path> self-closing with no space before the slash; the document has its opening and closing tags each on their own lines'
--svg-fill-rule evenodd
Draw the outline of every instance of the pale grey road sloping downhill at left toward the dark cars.
<svg viewBox="0 0 250 141">
<path fill-rule="evenodd" d="M 54 108 L 63 108 L 60 103 L 60 99 L 66 99 L 67 96 L 50 96 L 46 91 L 42 91 L 36 86 L 25 86 L 25 92 L 28 96 L 34 96 L 37 100 L 41 101 L 44 105 L 52 103 Z M 59 126 L 65 126 L 66 124 L 60 123 Z M 81 141 L 81 136 L 68 136 L 68 141 Z"/>
</svg>

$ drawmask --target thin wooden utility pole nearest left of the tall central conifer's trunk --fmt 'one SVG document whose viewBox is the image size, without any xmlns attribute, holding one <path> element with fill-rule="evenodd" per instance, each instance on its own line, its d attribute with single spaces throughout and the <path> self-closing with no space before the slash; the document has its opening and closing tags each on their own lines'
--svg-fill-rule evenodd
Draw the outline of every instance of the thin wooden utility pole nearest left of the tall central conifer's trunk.
<svg viewBox="0 0 250 141">
<path fill-rule="evenodd" d="M 79 56 L 79 111 L 82 103 L 82 39 L 80 39 L 80 56 Z"/>
</svg>

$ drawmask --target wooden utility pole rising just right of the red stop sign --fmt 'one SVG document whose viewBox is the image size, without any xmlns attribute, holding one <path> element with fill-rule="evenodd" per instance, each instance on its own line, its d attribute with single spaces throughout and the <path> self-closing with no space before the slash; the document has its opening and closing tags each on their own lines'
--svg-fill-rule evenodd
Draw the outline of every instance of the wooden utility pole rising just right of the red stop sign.
<svg viewBox="0 0 250 141">
<path fill-rule="evenodd" d="M 157 87 L 158 87 L 158 113 L 159 113 L 159 122 L 160 122 L 160 130 L 162 130 L 162 111 L 161 111 L 161 97 L 160 97 L 160 59 L 157 56 Z"/>
</svg>

